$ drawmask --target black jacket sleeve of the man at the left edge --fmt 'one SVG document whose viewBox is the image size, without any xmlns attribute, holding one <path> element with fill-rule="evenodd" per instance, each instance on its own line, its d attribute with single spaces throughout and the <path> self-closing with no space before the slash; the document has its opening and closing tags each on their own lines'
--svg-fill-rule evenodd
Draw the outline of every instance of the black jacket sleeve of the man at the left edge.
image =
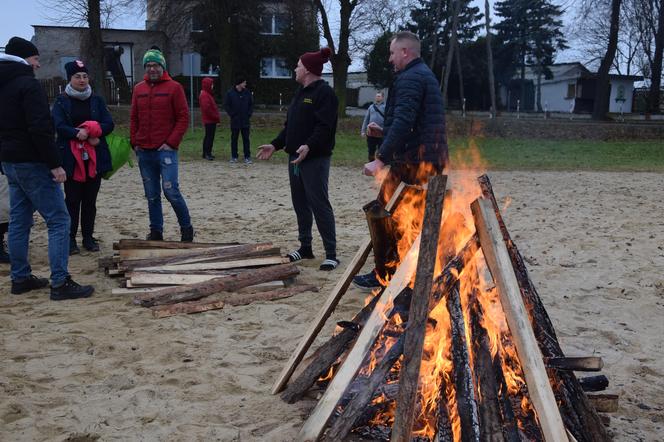
<svg viewBox="0 0 664 442">
<path fill-rule="evenodd" d="M 60 151 L 55 145 L 55 130 L 48 107 L 46 92 L 39 81 L 31 79 L 23 95 L 25 121 L 28 122 L 28 135 L 37 147 L 40 157 L 49 169 L 62 166 Z"/>
</svg>

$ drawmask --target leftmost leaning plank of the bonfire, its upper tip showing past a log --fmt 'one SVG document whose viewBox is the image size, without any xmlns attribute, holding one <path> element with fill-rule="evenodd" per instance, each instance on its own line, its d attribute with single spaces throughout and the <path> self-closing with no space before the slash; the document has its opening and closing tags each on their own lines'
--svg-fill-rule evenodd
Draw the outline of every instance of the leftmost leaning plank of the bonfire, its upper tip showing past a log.
<svg viewBox="0 0 664 442">
<path fill-rule="evenodd" d="M 404 183 L 399 183 L 399 186 L 394 191 L 390 201 L 388 201 L 387 205 L 385 206 L 387 210 L 392 210 L 392 208 L 394 208 L 397 201 L 399 201 L 401 192 L 405 187 L 406 185 Z M 281 373 L 279 373 L 277 380 L 274 382 L 274 385 L 272 386 L 272 394 L 277 394 L 284 389 L 286 383 L 293 375 L 293 371 L 295 371 L 297 365 L 300 363 L 300 361 L 302 361 L 302 358 L 304 358 L 307 350 L 309 350 L 309 347 L 316 339 L 316 336 L 318 336 L 318 333 L 320 333 L 321 329 L 325 325 L 325 321 L 327 321 L 327 318 L 330 317 L 334 309 L 337 307 L 337 304 L 339 304 L 339 301 L 346 293 L 346 290 L 348 290 L 350 283 L 353 281 L 353 276 L 355 276 L 364 265 L 364 262 L 367 260 L 370 251 L 371 239 L 369 238 L 362 241 L 359 250 L 355 254 L 355 257 L 348 264 L 348 267 L 346 267 L 343 275 L 341 275 L 339 281 L 330 292 L 327 300 L 325 301 L 325 304 L 323 304 L 323 307 L 321 307 L 320 311 L 318 312 L 318 315 L 314 318 L 313 322 L 309 326 L 309 329 L 304 333 L 304 336 L 302 336 L 302 339 L 300 339 L 300 343 L 298 344 L 297 348 L 291 355 L 288 362 L 286 362 L 286 365 L 281 370 Z"/>
</svg>

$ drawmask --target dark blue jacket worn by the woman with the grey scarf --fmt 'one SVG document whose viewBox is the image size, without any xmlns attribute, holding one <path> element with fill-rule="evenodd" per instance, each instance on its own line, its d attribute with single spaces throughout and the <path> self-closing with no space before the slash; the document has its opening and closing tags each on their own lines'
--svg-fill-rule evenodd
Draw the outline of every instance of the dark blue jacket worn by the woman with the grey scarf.
<svg viewBox="0 0 664 442">
<path fill-rule="evenodd" d="M 57 133 L 56 144 L 60 148 L 62 156 L 62 167 L 67 172 L 67 178 L 74 174 L 75 160 L 71 153 L 70 141 L 76 139 L 77 130 L 71 121 L 71 100 L 67 94 L 60 94 L 55 99 L 53 109 L 53 122 Z M 104 99 L 99 95 L 90 97 L 90 120 L 96 121 L 101 126 L 102 136 L 96 147 L 97 151 L 97 174 L 102 175 L 113 168 L 111 163 L 111 152 L 108 150 L 105 136 L 113 132 L 115 124 L 111 117 Z"/>
</svg>

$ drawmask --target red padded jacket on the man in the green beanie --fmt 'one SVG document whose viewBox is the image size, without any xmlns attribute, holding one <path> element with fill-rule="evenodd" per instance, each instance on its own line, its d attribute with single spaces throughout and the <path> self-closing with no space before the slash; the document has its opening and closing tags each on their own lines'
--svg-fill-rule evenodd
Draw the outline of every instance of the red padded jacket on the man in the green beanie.
<svg viewBox="0 0 664 442">
<path fill-rule="evenodd" d="M 189 108 L 184 89 L 164 71 L 152 83 L 147 75 L 134 86 L 131 97 L 131 145 L 158 149 L 166 143 L 177 149 L 189 124 Z"/>
</svg>

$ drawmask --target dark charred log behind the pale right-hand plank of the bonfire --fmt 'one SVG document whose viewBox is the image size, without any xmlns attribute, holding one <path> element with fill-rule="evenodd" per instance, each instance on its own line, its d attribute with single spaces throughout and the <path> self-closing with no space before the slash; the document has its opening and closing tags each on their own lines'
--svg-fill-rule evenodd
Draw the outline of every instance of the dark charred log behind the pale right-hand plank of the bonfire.
<svg viewBox="0 0 664 442">
<path fill-rule="evenodd" d="M 540 350 L 546 358 L 563 357 L 564 354 L 556 337 L 551 319 L 542 304 L 542 300 L 534 284 L 530 280 L 523 257 L 516 244 L 512 241 L 500 214 L 498 203 L 491 187 L 491 181 L 486 175 L 481 176 L 478 181 L 482 189 L 482 195 L 492 203 L 493 211 L 498 219 L 500 231 L 519 282 L 521 296 L 532 318 L 532 326 Z M 551 371 L 549 375 L 551 376 L 551 384 L 555 386 L 556 399 L 561 404 L 560 408 L 565 425 L 574 437 L 580 442 L 609 440 L 600 417 L 588 402 L 574 373 L 568 371 Z"/>
</svg>

